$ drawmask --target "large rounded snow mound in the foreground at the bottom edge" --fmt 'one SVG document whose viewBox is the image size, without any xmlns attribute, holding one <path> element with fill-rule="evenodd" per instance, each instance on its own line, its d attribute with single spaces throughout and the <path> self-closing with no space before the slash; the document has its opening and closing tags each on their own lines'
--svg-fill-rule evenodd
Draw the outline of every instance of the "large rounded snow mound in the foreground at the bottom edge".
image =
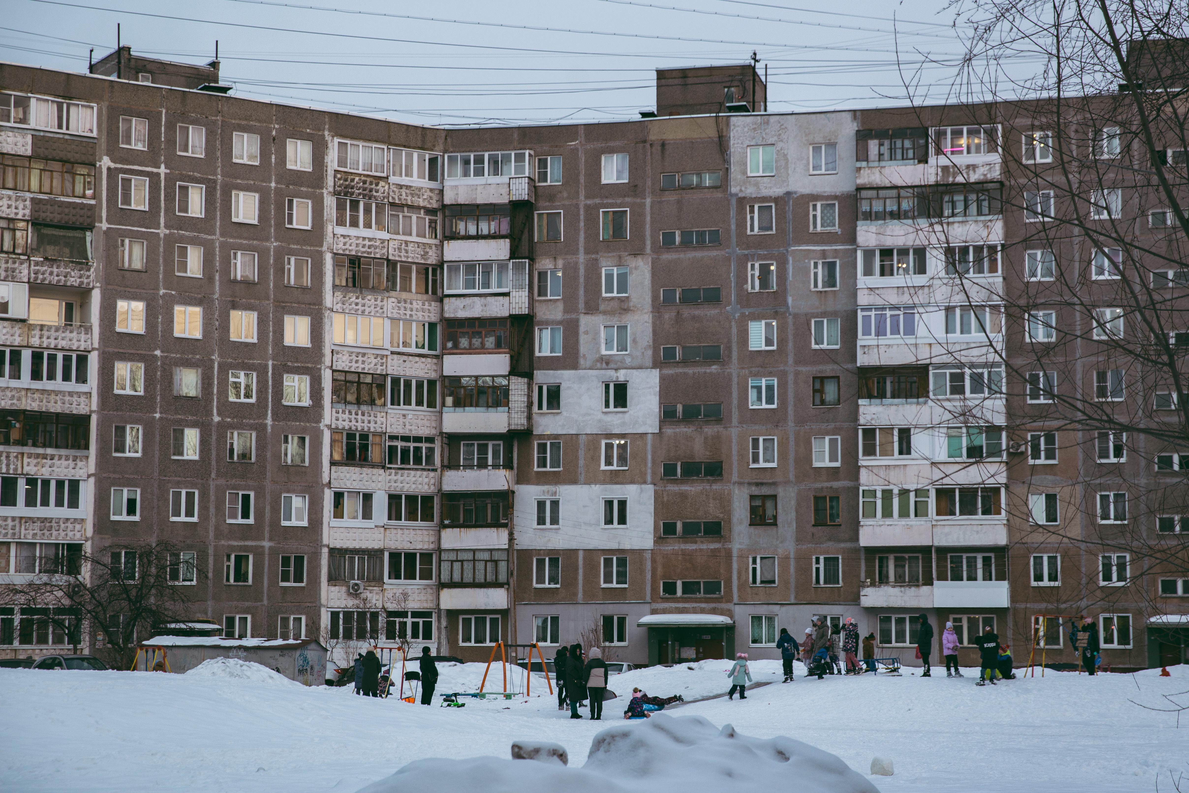
<svg viewBox="0 0 1189 793">
<path fill-rule="evenodd" d="M 797 780 L 798 793 L 879 793 L 837 756 L 807 743 L 751 738 L 700 716 L 665 715 L 603 730 L 581 768 L 498 757 L 419 760 L 360 793 L 762 791 L 784 789 L 789 780 Z"/>
</svg>

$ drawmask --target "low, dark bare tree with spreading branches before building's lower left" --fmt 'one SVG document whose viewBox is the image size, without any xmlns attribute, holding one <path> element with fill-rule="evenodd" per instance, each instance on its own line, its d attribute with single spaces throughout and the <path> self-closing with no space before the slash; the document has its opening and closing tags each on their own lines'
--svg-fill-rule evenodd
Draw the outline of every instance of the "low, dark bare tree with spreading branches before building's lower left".
<svg viewBox="0 0 1189 793">
<path fill-rule="evenodd" d="M 137 642 L 194 612 L 190 587 L 205 579 L 195 554 L 168 542 L 108 546 L 101 554 L 70 554 L 30 580 L 0 589 L 0 603 L 17 609 L 18 631 L 52 631 L 74 652 L 94 637 L 99 654 L 128 668 Z M 54 643 L 62 643 L 56 641 Z"/>
</svg>

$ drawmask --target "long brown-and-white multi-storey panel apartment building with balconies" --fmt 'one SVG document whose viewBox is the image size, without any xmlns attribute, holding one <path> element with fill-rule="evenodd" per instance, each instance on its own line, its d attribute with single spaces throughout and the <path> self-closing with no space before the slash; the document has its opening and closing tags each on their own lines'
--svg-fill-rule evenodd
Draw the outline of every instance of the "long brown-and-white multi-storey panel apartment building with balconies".
<svg viewBox="0 0 1189 793">
<path fill-rule="evenodd" d="M 912 662 L 920 613 L 1071 661 L 1034 617 L 1083 611 L 1116 666 L 1184 653 L 1163 583 L 1038 531 L 1168 474 L 1088 483 L 1112 439 L 1012 373 L 1021 273 L 1084 258 L 1039 253 L 1020 108 L 753 112 L 744 65 L 442 131 L 155 63 L 0 67 L 5 581 L 168 541 L 193 617 L 339 661 L 776 657 L 826 616 Z M 0 653 L 69 643 L 15 611 Z"/>
</svg>

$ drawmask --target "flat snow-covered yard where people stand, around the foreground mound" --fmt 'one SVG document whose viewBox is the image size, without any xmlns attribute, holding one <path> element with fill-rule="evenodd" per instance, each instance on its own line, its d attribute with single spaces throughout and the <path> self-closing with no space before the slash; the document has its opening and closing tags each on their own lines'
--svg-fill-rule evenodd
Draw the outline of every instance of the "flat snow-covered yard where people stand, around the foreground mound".
<svg viewBox="0 0 1189 793">
<path fill-rule="evenodd" d="M 477 690 L 484 666 L 443 665 L 438 692 Z M 254 676 L 0 669 L 0 788 L 354 793 L 414 760 L 508 757 L 514 739 L 558 742 L 575 767 L 598 731 L 624 724 L 633 686 L 686 699 L 726 690 L 726 661 L 691 666 L 615 675 L 621 698 L 608 703 L 600 723 L 559 712 L 541 678 L 528 700 L 466 699 L 452 709 L 306 688 L 263 668 Z M 757 681 L 779 680 L 775 661 L 751 668 Z M 1160 791 L 1172 789 L 1169 770 L 1189 781 L 1189 713 L 1178 731 L 1174 713 L 1128 700 L 1170 707 L 1160 694 L 1189 690 L 1189 667 L 1171 672 L 1093 679 L 1049 672 L 982 688 L 976 671 L 961 680 L 798 676 L 746 701 L 671 712 L 729 723 L 754 738 L 804 741 L 863 774 L 873 756 L 891 757 L 894 776 L 868 778 L 885 793 L 1155 793 L 1157 775 Z M 492 674 L 487 688 L 498 690 L 498 668 Z M 1189 704 L 1189 696 L 1179 701 Z"/>
</svg>

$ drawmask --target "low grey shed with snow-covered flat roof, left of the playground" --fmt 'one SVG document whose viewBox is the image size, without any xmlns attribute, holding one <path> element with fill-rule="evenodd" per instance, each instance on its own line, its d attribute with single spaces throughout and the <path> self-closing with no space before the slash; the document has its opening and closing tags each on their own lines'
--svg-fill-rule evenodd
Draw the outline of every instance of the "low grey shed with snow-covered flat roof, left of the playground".
<svg viewBox="0 0 1189 793">
<path fill-rule="evenodd" d="M 326 648 L 315 638 L 221 638 L 155 636 L 140 647 L 164 647 L 171 672 L 189 672 L 207 659 L 233 657 L 279 672 L 306 686 L 326 681 Z"/>
</svg>

